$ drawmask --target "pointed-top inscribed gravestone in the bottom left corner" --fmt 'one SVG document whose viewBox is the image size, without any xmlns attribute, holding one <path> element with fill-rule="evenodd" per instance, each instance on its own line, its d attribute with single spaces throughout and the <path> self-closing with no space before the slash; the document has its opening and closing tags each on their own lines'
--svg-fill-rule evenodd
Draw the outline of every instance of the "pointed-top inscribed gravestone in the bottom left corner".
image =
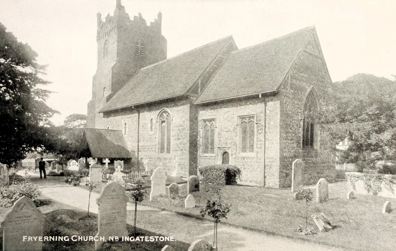
<svg viewBox="0 0 396 251">
<path fill-rule="evenodd" d="M 44 222 L 45 216 L 37 209 L 34 202 L 30 198 L 22 196 L 1 220 L 3 250 L 43 250 L 42 241 L 29 242 L 23 241 L 23 238 L 24 236 L 43 236 Z"/>
</svg>

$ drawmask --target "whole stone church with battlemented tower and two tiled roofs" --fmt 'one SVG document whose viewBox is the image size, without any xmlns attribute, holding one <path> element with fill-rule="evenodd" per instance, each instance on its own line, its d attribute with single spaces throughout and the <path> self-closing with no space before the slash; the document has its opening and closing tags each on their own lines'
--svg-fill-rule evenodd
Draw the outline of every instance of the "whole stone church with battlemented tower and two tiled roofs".
<svg viewBox="0 0 396 251">
<path fill-rule="evenodd" d="M 331 78 L 314 27 L 243 49 L 230 36 L 167 58 L 161 19 L 131 20 L 121 0 L 104 22 L 98 13 L 87 128 L 125 141 L 93 157 L 126 148 L 119 158 L 181 176 L 231 164 L 240 183 L 274 188 L 290 187 L 297 158 L 306 184 L 331 168 L 318 167 L 317 113 Z"/>
</svg>

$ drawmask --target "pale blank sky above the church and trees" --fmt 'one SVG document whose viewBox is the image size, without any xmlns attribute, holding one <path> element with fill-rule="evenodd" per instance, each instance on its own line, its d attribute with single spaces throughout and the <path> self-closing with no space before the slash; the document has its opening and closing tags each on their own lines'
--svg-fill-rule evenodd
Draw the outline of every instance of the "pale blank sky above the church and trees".
<svg viewBox="0 0 396 251">
<path fill-rule="evenodd" d="M 116 0 L 0 0 L 0 22 L 48 65 L 47 104 L 60 112 L 87 114 L 97 69 L 97 13 L 113 15 Z M 130 18 L 147 23 L 162 12 L 168 57 L 232 35 L 248 47 L 315 25 L 335 81 L 357 73 L 394 80 L 395 0 L 122 0 Z"/>
</svg>

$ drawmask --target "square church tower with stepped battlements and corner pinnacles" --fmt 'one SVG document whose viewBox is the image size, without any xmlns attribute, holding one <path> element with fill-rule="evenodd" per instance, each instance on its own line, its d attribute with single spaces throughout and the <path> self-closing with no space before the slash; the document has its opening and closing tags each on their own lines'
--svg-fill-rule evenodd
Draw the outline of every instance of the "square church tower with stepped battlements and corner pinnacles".
<svg viewBox="0 0 396 251">
<path fill-rule="evenodd" d="M 147 25 L 139 13 L 133 20 L 116 0 L 113 16 L 104 22 L 97 14 L 98 68 L 92 81 L 87 128 L 102 128 L 100 108 L 140 69 L 166 59 L 166 39 L 161 34 L 162 14 Z"/>
</svg>

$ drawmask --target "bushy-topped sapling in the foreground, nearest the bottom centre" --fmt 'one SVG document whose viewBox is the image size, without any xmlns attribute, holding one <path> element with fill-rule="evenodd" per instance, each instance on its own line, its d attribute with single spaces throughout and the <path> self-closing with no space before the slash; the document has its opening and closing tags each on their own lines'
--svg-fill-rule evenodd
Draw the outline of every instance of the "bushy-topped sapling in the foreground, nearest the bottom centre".
<svg viewBox="0 0 396 251">
<path fill-rule="evenodd" d="M 220 190 L 218 190 L 220 197 Z M 230 206 L 226 203 L 221 203 L 220 200 L 208 200 L 206 208 L 201 210 L 202 217 L 209 215 L 214 220 L 214 231 L 213 231 L 213 248 L 217 250 L 217 224 L 220 218 L 227 218 L 227 213 L 230 212 Z"/>
</svg>

